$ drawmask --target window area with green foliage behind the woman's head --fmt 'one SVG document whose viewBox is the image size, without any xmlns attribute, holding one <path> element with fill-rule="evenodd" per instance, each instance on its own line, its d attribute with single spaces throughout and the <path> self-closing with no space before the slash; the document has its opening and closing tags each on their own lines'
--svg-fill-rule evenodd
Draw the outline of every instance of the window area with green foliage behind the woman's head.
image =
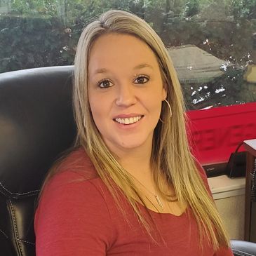
<svg viewBox="0 0 256 256">
<path fill-rule="evenodd" d="M 0 72 L 72 65 L 81 29 L 111 8 L 149 22 L 189 109 L 256 101 L 255 0 L 0 0 Z"/>
</svg>

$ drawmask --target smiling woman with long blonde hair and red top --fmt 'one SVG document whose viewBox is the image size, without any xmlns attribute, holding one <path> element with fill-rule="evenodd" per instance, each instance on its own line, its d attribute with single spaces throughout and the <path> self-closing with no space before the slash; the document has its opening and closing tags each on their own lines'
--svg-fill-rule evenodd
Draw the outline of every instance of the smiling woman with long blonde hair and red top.
<svg viewBox="0 0 256 256">
<path fill-rule="evenodd" d="M 46 178 L 36 255 L 233 255 L 191 156 L 182 90 L 146 22 L 108 11 L 83 30 L 76 147 Z"/>
</svg>

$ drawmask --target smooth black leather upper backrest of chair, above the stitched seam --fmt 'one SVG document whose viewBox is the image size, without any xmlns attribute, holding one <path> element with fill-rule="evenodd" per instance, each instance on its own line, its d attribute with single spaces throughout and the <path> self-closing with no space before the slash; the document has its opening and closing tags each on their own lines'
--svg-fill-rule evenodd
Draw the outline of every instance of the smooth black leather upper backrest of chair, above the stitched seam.
<svg viewBox="0 0 256 256">
<path fill-rule="evenodd" d="M 33 194 L 61 151 L 71 146 L 72 66 L 0 74 L 0 192 Z"/>
</svg>

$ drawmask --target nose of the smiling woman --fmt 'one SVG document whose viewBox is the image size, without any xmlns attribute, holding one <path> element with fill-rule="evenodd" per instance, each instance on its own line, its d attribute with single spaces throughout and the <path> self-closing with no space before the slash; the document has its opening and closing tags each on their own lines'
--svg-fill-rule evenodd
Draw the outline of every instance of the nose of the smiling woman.
<svg viewBox="0 0 256 256">
<path fill-rule="evenodd" d="M 117 90 L 116 105 L 119 107 L 129 107 L 136 103 L 136 95 L 133 85 L 121 84 Z"/>
</svg>

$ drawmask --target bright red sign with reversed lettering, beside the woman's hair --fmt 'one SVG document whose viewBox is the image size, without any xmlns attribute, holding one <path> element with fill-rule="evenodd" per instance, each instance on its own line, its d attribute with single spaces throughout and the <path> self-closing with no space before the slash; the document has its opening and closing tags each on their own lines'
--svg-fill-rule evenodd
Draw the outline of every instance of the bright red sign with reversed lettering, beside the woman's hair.
<svg viewBox="0 0 256 256">
<path fill-rule="evenodd" d="M 227 162 L 240 142 L 256 138 L 256 102 L 187 115 L 191 149 L 203 165 Z"/>
</svg>

